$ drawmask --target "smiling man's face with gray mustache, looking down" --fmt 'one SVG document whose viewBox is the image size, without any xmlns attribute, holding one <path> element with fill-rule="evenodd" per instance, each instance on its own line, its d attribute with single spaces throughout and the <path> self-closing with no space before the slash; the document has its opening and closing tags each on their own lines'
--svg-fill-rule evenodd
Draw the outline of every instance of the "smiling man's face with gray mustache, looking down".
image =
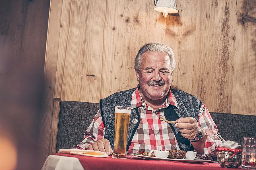
<svg viewBox="0 0 256 170">
<path fill-rule="evenodd" d="M 172 83 L 170 58 L 166 53 L 145 52 L 141 57 L 141 70 L 137 74 L 140 92 L 145 100 L 165 98 Z"/>
</svg>

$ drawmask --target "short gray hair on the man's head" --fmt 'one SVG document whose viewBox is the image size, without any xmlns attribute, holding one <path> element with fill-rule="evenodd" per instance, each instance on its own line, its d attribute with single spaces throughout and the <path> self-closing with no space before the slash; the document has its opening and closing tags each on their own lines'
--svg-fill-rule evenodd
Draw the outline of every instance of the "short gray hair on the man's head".
<svg viewBox="0 0 256 170">
<path fill-rule="evenodd" d="M 166 53 L 170 58 L 171 69 L 172 69 L 171 71 L 174 70 L 174 68 L 176 66 L 176 62 L 174 59 L 174 53 L 172 52 L 172 49 L 161 42 L 149 42 L 141 47 L 141 49 L 138 51 L 138 53 L 135 57 L 134 68 L 138 72 L 140 72 L 140 70 L 141 70 L 141 57 L 142 57 L 143 53 L 145 53 L 146 51 Z"/>
</svg>

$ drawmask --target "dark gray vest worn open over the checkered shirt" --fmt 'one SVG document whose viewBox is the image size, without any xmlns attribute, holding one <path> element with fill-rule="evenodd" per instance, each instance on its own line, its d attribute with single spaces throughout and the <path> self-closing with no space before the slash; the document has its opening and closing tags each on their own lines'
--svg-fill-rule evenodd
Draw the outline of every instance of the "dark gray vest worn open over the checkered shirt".
<svg viewBox="0 0 256 170">
<path fill-rule="evenodd" d="M 100 109 L 101 109 L 101 116 L 105 126 L 105 136 L 104 138 L 110 141 L 110 145 L 112 149 L 114 148 L 114 137 L 115 137 L 115 106 L 125 106 L 131 107 L 131 98 L 132 94 L 136 88 L 116 92 L 104 99 L 100 100 Z M 198 121 L 199 117 L 199 108 L 201 107 L 201 102 L 197 99 L 197 97 L 188 94 L 184 91 L 171 89 L 176 98 L 176 101 L 179 105 L 179 109 L 175 106 L 170 105 L 168 108 L 165 109 L 164 115 L 168 120 L 169 114 L 175 113 L 178 117 L 193 117 Z M 177 118 L 176 116 L 176 118 Z M 133 120 L 138 120 L 137 123 Z M 170 119 L 169 119 L 170 120 Z M 135 124 L 134 124 L 135 123 Z M 128 130 L 128 137 L 127 137 L 127 150 L 131 144 L 131 140 L 135 131 L 137 130 L 140 123 L 140 115 L 137 108 L 131 110 L 131 117 L 129 122 L 129 130 Z M 180 149 L 184 151 L 193 151 L 193 146 L 188 141 L 188 139 L 182 137 L 180 135 L 179 129 L 175 127 L 174 124 L 170 124 L 173 132 L 176 133 L 176 139 L 179 143 Z M 185 142 L 183 142 L 185 141 Z"/>
</svg>

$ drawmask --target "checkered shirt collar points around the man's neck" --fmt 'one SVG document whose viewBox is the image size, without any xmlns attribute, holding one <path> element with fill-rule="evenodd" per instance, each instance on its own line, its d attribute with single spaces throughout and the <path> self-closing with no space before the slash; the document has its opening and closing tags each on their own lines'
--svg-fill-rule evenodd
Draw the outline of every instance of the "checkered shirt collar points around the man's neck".
<svg viewBox="0 0 256 170">
<path fill-rule="evenodd" d="M 137 88 L 135 89 L 135 91 L 132 94 L 131 109 L 134 109 L 139 106 L 143 106 L 144 109 L 148 109 L 148 105 L 146 104 L 145 100 L 141 97 L 141 94 L 139 93 L 139 89 L 140 89 L 140 85 L 138 84 Z M 178 105 L 171 89 L 169 90 L 169 93 L 168 93 L 162 107 L 166 108 L 169 105 L 175 106 L 179 109 L 179 105 Z"/>
</svg>

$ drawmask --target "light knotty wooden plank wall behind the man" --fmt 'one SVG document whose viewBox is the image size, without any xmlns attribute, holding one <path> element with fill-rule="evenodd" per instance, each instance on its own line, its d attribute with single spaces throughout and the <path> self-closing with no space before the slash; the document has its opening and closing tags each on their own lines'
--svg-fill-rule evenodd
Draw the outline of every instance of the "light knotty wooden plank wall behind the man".
<svg viewBox="0 0 256 170">
<path fill-rule="evenodd" d="M 177 0 L 179 13 L 167 18 L 153 0 L 55 0 L 50 8 L 44 133 L 54 97 L 99 102 L 135 87 L 135 55 L 152 41 L 174 51 L 172 87 L 211 112 L 256 115 L 254 0 Z"/>
</svg>

